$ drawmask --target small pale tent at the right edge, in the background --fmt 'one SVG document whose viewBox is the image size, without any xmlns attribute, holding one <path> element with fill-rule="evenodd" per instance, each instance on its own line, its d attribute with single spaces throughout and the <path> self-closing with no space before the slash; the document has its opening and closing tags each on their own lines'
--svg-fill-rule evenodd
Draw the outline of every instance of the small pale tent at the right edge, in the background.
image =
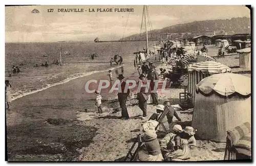
<svg viewBox="0 0 256 166">
<path fill-rule="evenodd" d="M 251 48 L 246 48 L 237 51 L 239 53 L 239 67 L 251 68 Z"/>
</svg>

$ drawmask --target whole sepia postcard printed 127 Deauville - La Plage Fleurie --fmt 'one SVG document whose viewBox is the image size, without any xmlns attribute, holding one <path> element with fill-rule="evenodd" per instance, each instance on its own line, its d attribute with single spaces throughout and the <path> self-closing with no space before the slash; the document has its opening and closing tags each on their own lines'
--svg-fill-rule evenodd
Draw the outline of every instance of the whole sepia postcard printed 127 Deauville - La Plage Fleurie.
<svg viewBox="0 0 256 166">
<path fill-rule="evenodd" d="M 5 6 L 7 161 L 251 161 L 251 6 Z"/>
</svg>

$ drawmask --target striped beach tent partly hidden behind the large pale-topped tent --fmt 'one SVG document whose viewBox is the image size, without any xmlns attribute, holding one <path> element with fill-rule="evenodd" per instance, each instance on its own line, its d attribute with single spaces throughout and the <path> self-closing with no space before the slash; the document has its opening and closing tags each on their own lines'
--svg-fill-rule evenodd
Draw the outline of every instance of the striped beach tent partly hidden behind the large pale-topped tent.
<svg viewBox="0 0 256 166">
<path fill-rule="evenodd" d="M 195 85 L 202 79 L 220 73 L 230 73 L 231 68 L 216 61 L 201 61 L 188 66 L 188 93 L 195 101 Z"/>
</svg>

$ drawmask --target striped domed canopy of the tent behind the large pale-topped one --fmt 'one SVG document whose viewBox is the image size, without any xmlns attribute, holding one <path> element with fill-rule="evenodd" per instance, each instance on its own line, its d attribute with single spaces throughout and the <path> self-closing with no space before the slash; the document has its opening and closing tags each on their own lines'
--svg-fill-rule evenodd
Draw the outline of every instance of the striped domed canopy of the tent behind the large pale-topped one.
<svg viewBox="0 0 256 166">
<path fill-rule="evenodd" d="M 208 74 L 219 74 L 231 72 L 231 68 L 216 61 L 201 61 L 192 64 L 188 67 L 188 72 L 193 72 L 194 70 L 200 71 L 202 73 Z"/>
</svg>

